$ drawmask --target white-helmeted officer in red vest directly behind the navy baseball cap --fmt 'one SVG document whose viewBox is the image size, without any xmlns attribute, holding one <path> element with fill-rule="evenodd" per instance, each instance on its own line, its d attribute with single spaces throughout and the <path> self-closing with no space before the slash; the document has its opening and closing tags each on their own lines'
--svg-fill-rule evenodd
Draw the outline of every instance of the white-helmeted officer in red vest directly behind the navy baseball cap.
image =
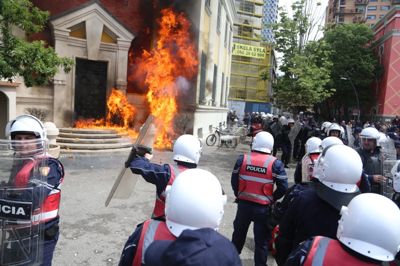
<svg viewBox="0 0 400 266">
<path fill-rule="evenodd" d="M 188 169 L 176 177 L 165 193 L 166 221 L 146 220 L 139 224 L 124 246 L 120 266 L 143 265 L 146 248 L 155 240 L 174 240 L 185 229 L 218 230 L 226 195 L 222 195 L 221 185 L 212 173 Z"/>
</svg>

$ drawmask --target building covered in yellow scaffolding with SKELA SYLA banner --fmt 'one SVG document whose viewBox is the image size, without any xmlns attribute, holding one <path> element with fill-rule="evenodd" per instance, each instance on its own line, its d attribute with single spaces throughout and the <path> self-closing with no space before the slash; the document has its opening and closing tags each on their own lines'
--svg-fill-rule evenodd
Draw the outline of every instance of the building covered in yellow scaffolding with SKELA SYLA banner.
<svg viewBox="0 0 400 266">
<path fill-rule="evenodd" d="M 276 80 L 276 72 L 274 52 L 260 38 L 264 2 L 236 0 L 235 8 L 229 107 L 240 116 L 246 111 L 267 113 L 272 95 L 270 85 Z M 272 79 L 264 81 L 262 73 L 268 73 Z"/>
</svg>

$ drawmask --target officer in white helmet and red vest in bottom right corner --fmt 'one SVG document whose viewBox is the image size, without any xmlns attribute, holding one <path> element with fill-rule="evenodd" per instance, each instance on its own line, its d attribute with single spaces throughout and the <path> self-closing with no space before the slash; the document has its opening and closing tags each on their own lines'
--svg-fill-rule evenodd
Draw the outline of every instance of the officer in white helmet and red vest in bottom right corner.
<svg viewBox="0 0 400 266">
<path fill-rule="evenodd" d="M 334 220 L 338 240 L 314 236 L 290 254 L 285 266 L 372 266 L 394 259 L 400 246 L 396 222 L 400 210 L 396 204 L 381 195 L 366 193 L 343 206 L 340 215 L 339 226 Z M 376 225 L 374 230 L 371 224 Z"/>
</svg>

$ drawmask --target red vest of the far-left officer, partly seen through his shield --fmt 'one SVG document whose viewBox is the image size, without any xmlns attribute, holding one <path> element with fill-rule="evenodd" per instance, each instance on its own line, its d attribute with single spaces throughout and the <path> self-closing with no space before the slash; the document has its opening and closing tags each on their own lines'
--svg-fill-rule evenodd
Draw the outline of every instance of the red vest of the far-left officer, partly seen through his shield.
<svg viewBox="0 0 400 266">
<path fill-rule="evenodd" d="M 46 158 L 53 158 L 53 157 L 46 156 Z M 64 181 L 64 176 L 65 176 L 64 167 L 62 166 L 60 161 L 58 161 L 57 159 L 55 160 L 61 167 L 62 179 L 61 182 L 50 191 L 44 202 L 46 210 L 44 215 L 45 222 L 52 220 L 58 216 L 58 208 L 60 207 L 60 199 L 61 199 L 61 184 Z M 29 178 L 31 176 L 31 171 L 34 165 L 35 163 L 29 162 L 24 167 L 22 167 L 22 169 L 16 174 L 14 181 L 14 185 L 16 187 L 23 187 L 28 184 Z M 50 169 L 41 169 L 41 171 L 42 175 L 47 175 Z"/>
</svg>

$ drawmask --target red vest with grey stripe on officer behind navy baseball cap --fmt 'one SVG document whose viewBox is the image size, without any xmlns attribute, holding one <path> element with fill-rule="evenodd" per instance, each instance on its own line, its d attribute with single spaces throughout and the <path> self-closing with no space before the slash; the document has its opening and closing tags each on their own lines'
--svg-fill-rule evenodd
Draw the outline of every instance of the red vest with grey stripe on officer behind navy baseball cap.
<svg viewBox="0 0 400 266">
<path fill-rule="evenodd" d="M 165 222 L 146 220 L 142 224 L 139 242 L 136 246 L 136 253 L 133 257 L 132 266 L 144 265 L 144 253 L 147 247 L 156 240 L 175 240 L 174 236 Z"/>
</svg>

